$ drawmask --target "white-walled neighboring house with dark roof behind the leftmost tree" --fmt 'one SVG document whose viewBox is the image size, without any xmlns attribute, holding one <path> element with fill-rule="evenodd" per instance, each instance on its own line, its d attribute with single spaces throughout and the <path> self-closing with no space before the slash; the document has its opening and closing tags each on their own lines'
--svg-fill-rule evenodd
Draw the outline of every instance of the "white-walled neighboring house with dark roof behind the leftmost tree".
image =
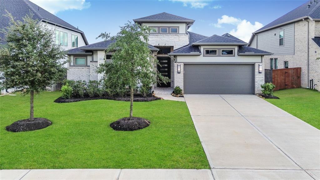
<svg viewBox="0 0 320 180">
<path fill-rule="evenodd" d="M 53 38 L 56 44 L 61 45 L 65 50 L 88 45 L 84 32 L 28 0 L 0 0 L 0 29 L 9 26 L 10 19 L 4 16 L 7 14 L 6 10 L 12 14 L 15 20 L 22 20 L 32 12 L 34 20 L 38 20 L 39 23 L 54 31 Z M 0 33 L 0 43 L 6 43 L 3 33 Z"/>
</svg>

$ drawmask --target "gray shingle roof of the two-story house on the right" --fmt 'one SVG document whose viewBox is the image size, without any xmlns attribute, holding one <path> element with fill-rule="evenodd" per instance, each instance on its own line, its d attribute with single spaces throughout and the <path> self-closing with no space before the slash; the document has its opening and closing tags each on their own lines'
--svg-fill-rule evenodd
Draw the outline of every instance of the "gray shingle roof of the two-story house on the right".
<svg viewBox="0 0 320 180">
<path fill-rule="evenodd" d="M 320 19 L 320 2 L 310 4 L 308 0 L 306 3 L 302 4 L 301 6 L 297 7 L 296 9 L 284 14 L 280 18 L 270 22 L 269 24 L 265 25 L 264 27 L 258 29 L 256 32 L 259 32 L 264 29 L 271 28 L 273 26 L 277 26 L 279 24 L 283 24 L 288 21 L 296 20 L 305 16 L 310 16 L 312 19 Z M 308 4 L 310 4 L 310 8 L 308 8 Z"/>
</svg>

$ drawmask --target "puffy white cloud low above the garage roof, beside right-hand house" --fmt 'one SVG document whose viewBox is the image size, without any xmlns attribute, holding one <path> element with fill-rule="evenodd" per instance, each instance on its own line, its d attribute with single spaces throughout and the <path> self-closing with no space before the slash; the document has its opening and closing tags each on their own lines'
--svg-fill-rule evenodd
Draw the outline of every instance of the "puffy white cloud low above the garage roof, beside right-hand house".
<svg viewBox="0 0 320 180">
<path fill-rule="evenodd" d="M 236 29 L 232 29 L 229 34 L 245 42 L 249 42 L 252 32 L 263 27 L 260 22 L 256 21 L 254 22 L 254 24 L 251 24 L 250 21 L 241 20 L 240 18 L 235 18 L 227 15 L 221 16 L 221 19 L 218 19 L 218 23 L 211 23 L 209 25 L 216 28 L 222 28 L 222 24 L 231 24 L 236 26 Z"/>
</svg>

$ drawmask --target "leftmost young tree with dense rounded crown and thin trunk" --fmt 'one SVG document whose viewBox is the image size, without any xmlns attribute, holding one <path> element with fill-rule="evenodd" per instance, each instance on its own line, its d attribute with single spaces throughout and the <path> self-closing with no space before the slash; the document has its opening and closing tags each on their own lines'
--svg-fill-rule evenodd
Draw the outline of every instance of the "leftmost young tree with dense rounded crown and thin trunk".
<svg viewBox="0 0 320 180">
<path fill-rule="evenodd" d="M 17 88 L 22 95 L 30 93 L 30 121 L 33 96 L 59 81 L 65 74 L 65 52 L 55 45 L 53 31 L 33 20 L 30 12 L 15 21 L 7 12 L 10 26 L 1 29 L 7 43 L 0 46 L 0 81 L 3 87 Z"/>
</svg>

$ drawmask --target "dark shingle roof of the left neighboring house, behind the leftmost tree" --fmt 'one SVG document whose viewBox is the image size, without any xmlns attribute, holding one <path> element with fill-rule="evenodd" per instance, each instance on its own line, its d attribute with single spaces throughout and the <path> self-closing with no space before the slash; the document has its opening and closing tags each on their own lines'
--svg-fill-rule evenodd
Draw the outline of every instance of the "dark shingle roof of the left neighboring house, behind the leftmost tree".
<svg viewBox="0 0 320 180">
<path fill-rule="evenodd" d="M 29 12 L 31 11 L 34 20 L 44 21 L 51 24 L 55 24 L 57 26 L 70 29 L 76 32 L 79 32 L 86 45 L 88 45 L 88 41 L 84 36 L 84 32 L 72 26 L 68 22 L 58 18 L 57 16 L 51 14 L 50 12 L 44 10 L 38 5 L 30 2 L 29 0 L 0 0 L 0 28 L 3 29 L 9 26 L 9 18 L 3 16 L 6 14 L 5 10 L 10 12 L 15 20 L 22 20 Z M 4 34 L 0 33 L 0 38 L 4 39 Z"/>
</svg>

